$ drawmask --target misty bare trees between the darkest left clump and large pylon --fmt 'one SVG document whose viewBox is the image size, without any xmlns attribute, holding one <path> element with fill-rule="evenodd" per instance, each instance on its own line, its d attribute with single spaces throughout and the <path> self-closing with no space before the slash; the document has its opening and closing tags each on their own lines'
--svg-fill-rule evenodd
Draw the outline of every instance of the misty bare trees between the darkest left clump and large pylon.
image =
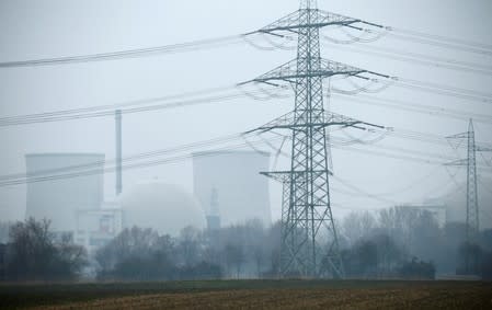
<svg viewBox="0 0 492 310">
<path fill-rule="evenodd" d="M 184 228 L 175 238 L 125 229 L 95 254 L 101 279 L 164 280 L 274 277 L 279 268 L 279 225 L 258 220 L 216 231 Z"/>
</svg>

